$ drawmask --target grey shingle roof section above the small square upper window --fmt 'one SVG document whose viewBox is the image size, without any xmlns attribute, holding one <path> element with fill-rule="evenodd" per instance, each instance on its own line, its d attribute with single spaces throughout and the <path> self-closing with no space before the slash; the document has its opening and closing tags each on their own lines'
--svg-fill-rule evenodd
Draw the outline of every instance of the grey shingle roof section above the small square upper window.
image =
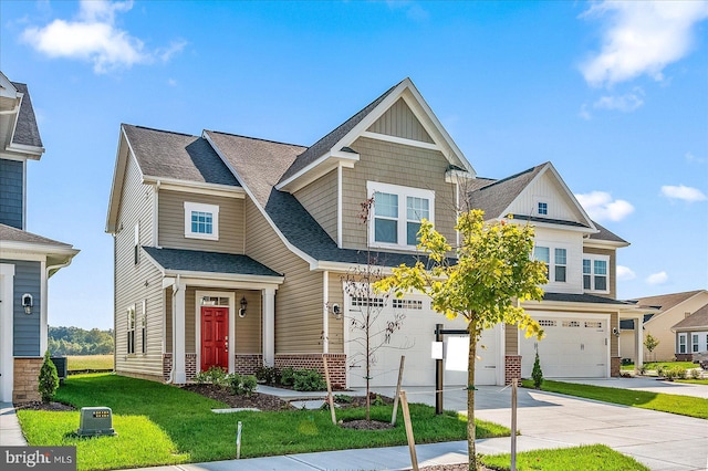
<svg viewBox="0 0 708 471">
<path fill-rule="evenodd" d="M 241 186 L 202 137 L 129 124 L 123 124 L 123 129 L 143 175 Z"/>
</svg>

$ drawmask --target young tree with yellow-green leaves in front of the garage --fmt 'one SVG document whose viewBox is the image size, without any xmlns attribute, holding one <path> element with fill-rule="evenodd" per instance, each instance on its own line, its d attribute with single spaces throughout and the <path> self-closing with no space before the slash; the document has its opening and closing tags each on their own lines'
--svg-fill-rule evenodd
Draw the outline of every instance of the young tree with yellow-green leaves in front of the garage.
<svg viewBox="0 0 708 471">
<path fill-rule="evenodd" d="M 545 264 L 531 259 L 533 229 L 528 224 L 485 222 L 485 212 L 461 212 L 455 229 L 460 247 L 457 261 L 447 254 L 452 248 L 429 221 L 423 221 L 418 249 L 428 255 L 428 266 L 418 261 L 400 265 L 391 276 L 377 282 L 381 291 L 393 290 L 400 297 L 415 290 L 427 293 L 433 308 L 467 321 L 469 332 L 467 387 L 467 442 L 469 469 L 477 469 L 475 452 L 475 358 L 477 342 L 485 328 L 503 322 L 525 329 L 527 337 L 542 337 L 543 331 L 520 306 L 521 301 L 541 300 L 546 283 Z M 513 433 L 513 431 L 512 431 Z"/>
</svg>

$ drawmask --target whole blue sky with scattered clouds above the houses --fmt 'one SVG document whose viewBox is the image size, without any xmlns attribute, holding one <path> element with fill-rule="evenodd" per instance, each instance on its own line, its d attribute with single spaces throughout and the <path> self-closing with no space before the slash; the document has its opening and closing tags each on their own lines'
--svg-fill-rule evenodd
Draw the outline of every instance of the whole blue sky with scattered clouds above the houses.
<svg viewBox="0 0 708 471">
<path fill-rule="evenodd" d="M 409 76 L 478 175 L 551 160 L 618 251 L 618 297 L 708 289 L 708 3 L 0 2 L 0 70 L 46 153 L 28 230 L 81 253 L 50 325 L 113 325 L 121 123 L 311 145 Z"/>
</svg>

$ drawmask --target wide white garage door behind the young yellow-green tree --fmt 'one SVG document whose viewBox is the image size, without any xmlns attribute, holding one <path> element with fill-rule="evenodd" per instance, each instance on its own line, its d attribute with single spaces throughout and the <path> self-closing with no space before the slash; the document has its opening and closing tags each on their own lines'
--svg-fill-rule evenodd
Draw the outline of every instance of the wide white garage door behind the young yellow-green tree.
<svg viewBox="0 0 708 471">
<path fill-rule="evenodd" d="M 344 329 L 344 352 L 347 356 L 347 385 L 366 386 L 366 335 L 360 327 L 367 311 L 365 299 L 346 296 Z M 371 347 L 375 350 L 372 371 L 372 386 L 395 386 L 398 379 L 400 356 L 406 356 L 404 386 L 434 386 L 435 360 L 430 357 L 431 343 L 435 341 L 435 325 L 444 328 L 464 329 L 467 323 L 457 318 L 447 320 L 430 308 L 427 296 L 409 295 L 403 300 L 372 300 L 371 315 L 375 317 L 371 328 Z M 353 324 L 357 324 L 354 326 Z M 478 345 L 476 384 L 497 384 L 498 334 L 494 328 L 482 335 Z M 445 336 L 448 338 L 449 336 Z M 499 367 L 503 367 L 503 364 Z M 444 384 L 466 385 L 467 371 L 445 370 Z"/>
</svg>

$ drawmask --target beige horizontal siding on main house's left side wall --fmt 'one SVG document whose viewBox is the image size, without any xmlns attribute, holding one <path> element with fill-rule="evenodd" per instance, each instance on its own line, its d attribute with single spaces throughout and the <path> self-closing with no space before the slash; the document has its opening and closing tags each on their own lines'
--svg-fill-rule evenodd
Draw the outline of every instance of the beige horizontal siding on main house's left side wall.
<svg viewBox="0 0 708 471">
<path fill-rule="evenodd" d="M 115 266 L 115 365 L 116 371 L 163 376 L 162 273 L 140 250 L 134 262 L 135 226 L 139 224 L 139 245 L 154 245 L 154 189 L 142 182 L 142 175 L 129 155 L 114 236 Z M 147 353 L 142 353 L 143 302 L 147 307 Z M 127 353 L 127 310 L 135 305 L 135 354 Z"/>
</svg>

